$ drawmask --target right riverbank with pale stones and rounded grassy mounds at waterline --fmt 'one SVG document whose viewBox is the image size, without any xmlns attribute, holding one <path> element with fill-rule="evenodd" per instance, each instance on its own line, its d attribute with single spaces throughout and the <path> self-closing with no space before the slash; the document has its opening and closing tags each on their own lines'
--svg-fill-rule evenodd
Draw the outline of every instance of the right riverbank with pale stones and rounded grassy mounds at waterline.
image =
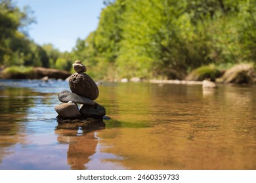
<svg viewBox="0 0 256 183">
<path fill-rule="evenodd" d="M 159 84 L 203 84 L 203 80 L 222 84 L 255 84 L 256 70 L 253 63 L 240 63 L 229 69 L 218 69 L 215 65 L 204 65 L 191 71 L 183 80 L 122 78 L 120 82 L 151 82 Z"/>
</svg>

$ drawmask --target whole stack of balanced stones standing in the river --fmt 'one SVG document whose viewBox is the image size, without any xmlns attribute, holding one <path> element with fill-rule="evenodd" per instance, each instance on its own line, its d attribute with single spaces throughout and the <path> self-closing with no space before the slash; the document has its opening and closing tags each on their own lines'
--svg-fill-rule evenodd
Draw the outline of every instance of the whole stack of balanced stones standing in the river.
<svg viewBox="0 0 256 183">
<path fill-rule="evenodd" d="M 54 107 L 58 117 L 64 120 L 103 118 L 106 109 L 94 101 L 98 97 L 98 86 L 90 76 L 84 73 L 87 69 L 81 61 L 75 61 L 73 68 L 76 73 L 69 79 L 72 92 L 61 91 L 58 99 L 62 103 Z M 80 108 L 77 104 L 81 104 Z"/>
</svg>

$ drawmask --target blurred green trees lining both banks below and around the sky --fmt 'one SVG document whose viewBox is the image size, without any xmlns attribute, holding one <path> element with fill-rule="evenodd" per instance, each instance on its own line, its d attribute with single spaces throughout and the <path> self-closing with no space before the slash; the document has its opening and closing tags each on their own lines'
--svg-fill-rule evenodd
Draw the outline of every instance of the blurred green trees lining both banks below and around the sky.
<svg viewBox="0 0 256 183">
<path fill-rule="evenodd" d="M 80 59 L 97 79 L 182 79 L 193 69 L 226 69 L 256 61 L 256 1 L 104 1 L 98 27 L 77 39 L 72 52 L 39 46 L 25 28 L 29 8 L 0 1 L 0 65 L 32 65 L 71 71 Z M 81 22 L 83 24 L 83 22 Z"/>
</svg>

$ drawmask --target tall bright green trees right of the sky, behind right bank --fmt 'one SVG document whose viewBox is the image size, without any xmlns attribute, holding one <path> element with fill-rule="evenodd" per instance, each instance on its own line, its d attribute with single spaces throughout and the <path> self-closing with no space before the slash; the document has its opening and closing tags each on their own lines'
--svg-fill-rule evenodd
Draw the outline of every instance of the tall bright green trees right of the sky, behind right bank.
<svg viewBox="0 0 256 183">
<path fill-rule="evenodd" d="M 117 0 L 105 5 L 96 31 L 77 40 L 72 52 L 102 78 L 182 79 L 202 65 L 256 59 L 255 1 Z"/>
</svg>

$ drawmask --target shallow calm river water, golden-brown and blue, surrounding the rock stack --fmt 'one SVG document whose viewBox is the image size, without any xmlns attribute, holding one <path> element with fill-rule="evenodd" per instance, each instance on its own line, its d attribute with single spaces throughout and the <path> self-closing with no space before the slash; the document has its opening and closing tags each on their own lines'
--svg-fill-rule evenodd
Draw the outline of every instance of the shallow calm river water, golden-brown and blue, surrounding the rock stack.
<svg viewBox="0 0 256 183">
<path fill-rule="evenodd" d="M 256 87 L 102 84 L 111 120 L 59 129 L 68 82 L 0 80 L 0 169 L 256 169 Z"/>
</svg>

